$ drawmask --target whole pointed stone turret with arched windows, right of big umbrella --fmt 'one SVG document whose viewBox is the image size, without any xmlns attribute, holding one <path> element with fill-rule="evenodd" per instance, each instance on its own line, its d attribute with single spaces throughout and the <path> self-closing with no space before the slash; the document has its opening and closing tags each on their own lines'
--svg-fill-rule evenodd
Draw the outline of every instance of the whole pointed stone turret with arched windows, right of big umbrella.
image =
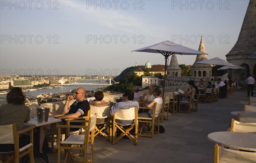
<svg viewBox="0 0 256 163">
<path fill-rule="evenodd" d="M 206 53 L 204 48 L 203 37 L 201 37 L 201 42 L 198 51 Z M 191 76 L 193 77 L 211 77 L 212 76 L 212 66 L 207 64 L 199 64 L 197 62 L 207 60 L 207 54 L 197 55 L 195 63 L 191 66 Z"/>
</svg>

